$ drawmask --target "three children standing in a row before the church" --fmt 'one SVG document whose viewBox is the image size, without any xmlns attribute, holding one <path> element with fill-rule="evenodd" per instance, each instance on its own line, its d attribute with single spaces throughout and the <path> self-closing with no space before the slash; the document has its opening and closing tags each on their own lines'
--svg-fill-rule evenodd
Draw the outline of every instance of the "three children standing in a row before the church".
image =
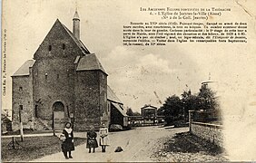
<svg viewBox="0 0 256 163">
<path fill-rule="evenodd" d="M 100 146 L 102 147 L 102 152 L 106 151 L 106 146 L 109 145 L 109 139 L 108 139 L 108 129 L 105 127 L 104 124 L 102 124 L 102 127 L 99 131 L 100 136 Z M 89 149 L 89 153 L 95 152 L 95 149 L 98 148 L 98 141 L 97 141 L 97 133 L 94 131 L 94 126 L 91 126 L 91 129 L 87 132 L 87 143 L 86 143 L 86 149 Z M 64 158 L 69 159 L 73 158 L 71 155 L 71 151 L 74 150 L 74 133 L 73 129 L 71 128 L 71 123 L 67 122 L 65 124 L 65 129 L 63 130 L 63 140 L 62 143 L 62 150 L 64 153 Z M 69 155 L 67 155 L 69 154 Z"/>
</svg>

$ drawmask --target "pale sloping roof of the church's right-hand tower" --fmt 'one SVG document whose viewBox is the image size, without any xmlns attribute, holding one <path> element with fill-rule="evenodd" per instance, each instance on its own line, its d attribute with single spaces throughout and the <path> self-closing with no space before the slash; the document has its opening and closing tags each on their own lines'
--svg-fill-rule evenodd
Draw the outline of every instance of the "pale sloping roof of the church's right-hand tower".
<svg viewBox="0 0 256 163">
<path fill-rule="evenodd" d="M 99 62 L 94 53 L 86 54 L 85 56 L 81 57 L 76 68 L 76 71 L 89 70 L 101 70 L 102 72 L 106 73 L 101 62 Z"/>
</svg>

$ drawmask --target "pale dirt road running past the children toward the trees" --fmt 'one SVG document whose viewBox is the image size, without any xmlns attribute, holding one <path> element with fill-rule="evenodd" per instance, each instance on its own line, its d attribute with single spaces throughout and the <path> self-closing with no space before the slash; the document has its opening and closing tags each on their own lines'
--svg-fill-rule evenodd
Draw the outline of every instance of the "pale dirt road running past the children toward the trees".
<svg viewBox="0 0 256 163">
<path fill-rule="evenodd" d="M 188 131 L 188 128 L 163 129 L 156 126 L 131 129 L 121 132 L 112 132 L 109 135 L 111 146 L 105 153 L 96 149 L 95 153 L 88 153 L 85 144 L 75 148 L 72 159 L 64 159 L 63 153 L 56 153 L 34 161 L 52 162 L 125 162 L 125 161 L 153 161 L 153 152 L 158 149 L 156 143 L 166 136 L 174 136 L 175 133 Z M 85 134 L 84 134 L 85 136 Z M 116 147 L 122 147 L 123 152 L 115 153 Z M 173 161 L 173 160 L 169 160 Z"/>
</svg>

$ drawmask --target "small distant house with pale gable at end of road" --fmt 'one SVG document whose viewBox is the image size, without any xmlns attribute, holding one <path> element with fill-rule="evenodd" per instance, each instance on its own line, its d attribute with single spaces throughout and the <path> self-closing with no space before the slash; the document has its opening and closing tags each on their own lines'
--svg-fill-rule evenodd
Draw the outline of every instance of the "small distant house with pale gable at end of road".
<svg viewBox="0 0 256 163">
<path fill-rule="evenodd" d="M 141 108 L 143 123 L 154 124 L 157 123 L 157 108 L 152 105 L 145 105 Z"/>
</svg>

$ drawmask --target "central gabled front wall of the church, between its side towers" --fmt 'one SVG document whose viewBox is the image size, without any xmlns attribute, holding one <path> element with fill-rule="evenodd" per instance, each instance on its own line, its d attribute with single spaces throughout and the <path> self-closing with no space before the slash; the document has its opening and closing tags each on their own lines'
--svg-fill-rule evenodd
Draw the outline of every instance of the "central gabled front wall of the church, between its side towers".
<svg viewBox="0 0 256 163">
<path fill-rule="evenodd" d="M 53 123 L 55 101 L 64 104 L 66 120 L 74 112 L 74 60 L 77 55 L 82 55 L 81 50 L 58 23 L 34 53 L 34 107 L 37 105 L 38 118 L 48 120 L 48 126 Z"/>
</svg>

